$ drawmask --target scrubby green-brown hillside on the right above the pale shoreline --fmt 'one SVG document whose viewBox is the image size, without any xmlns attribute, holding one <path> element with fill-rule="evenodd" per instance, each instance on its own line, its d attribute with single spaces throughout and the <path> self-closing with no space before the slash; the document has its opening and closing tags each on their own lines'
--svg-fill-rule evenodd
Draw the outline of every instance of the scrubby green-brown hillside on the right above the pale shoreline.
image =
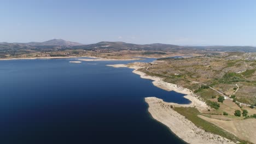
<svg viewBox="0 0 256 144">
<path fill-rule="evenodd" d="M 147 68 L 147 72 L 164 76 L 166 81 L 193 91 L 203 83 L 224 95 L 235 94 L 241 103 L 256 105 L 256 53 L 231 52 L 217 56 L 162 58 Z M 237 87 L 239 90 L 234 93 Z M 208 98 L 214 92 L 200 91 L 198 94 Z"/>
</svg>

